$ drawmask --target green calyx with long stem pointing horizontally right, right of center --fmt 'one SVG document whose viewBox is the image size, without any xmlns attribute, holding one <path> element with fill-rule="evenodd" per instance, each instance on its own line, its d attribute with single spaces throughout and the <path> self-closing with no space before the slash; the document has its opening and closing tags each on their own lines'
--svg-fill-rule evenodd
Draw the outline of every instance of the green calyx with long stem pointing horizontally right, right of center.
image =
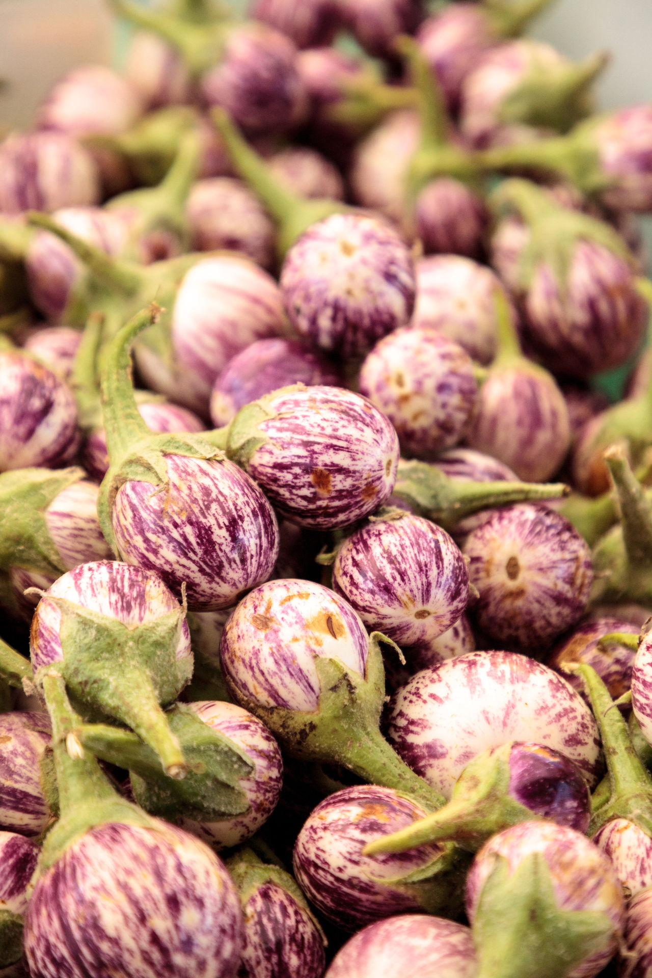
<svg viewBox="0 0 652 978">
<path fill-rule="evenodd" d="M 481 510 L 510 503 L 559 499 L 569 492 L 563 483 L 473 482 L 454 479 L 427 462 L 399 462 L 394 496 L 404 499 L 419 515 L 449 532 L 457 523 Z"/>
</svg>

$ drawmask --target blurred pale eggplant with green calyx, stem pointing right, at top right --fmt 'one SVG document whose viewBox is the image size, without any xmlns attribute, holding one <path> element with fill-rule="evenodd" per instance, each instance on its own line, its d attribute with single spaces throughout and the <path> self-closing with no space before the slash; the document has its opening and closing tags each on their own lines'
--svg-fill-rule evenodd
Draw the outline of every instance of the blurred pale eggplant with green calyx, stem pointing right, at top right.
<svg viewBox="0 0 652 978">
<path fill-rule="evenodd" d="M 531 38 L 500 44 L 464 78 L 461 132 L 478 148 L 565 132 L 592 111 L 590 86 L 608 60 L 598 52 L 574 64 Z"/>
</svg>

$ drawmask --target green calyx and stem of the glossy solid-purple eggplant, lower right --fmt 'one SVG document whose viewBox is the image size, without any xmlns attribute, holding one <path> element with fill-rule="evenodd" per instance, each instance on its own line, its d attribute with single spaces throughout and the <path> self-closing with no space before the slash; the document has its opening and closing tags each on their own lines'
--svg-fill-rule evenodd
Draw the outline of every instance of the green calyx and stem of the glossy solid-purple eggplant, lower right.
<svg viewBox="0 0 652 978">
<path fill-rule="evenodd" d="M 492 835 L 537 816 L 509 794 L 511 743 L 489 749 L 467 764 L 451 801 L 438 812 L 370 842 L 366 855 L 399 853 L 432 842 L 452 841 L 475 852 Z"/>
</svg>

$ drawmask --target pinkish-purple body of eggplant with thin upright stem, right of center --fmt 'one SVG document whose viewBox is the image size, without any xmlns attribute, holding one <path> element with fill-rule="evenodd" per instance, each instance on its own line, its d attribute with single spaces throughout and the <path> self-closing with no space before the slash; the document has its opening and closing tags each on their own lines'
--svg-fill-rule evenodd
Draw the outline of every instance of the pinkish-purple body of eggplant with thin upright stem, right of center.
<svg viewBox="0 0 652 978">
<path fill-rule="evenodd" d="M 570 438 L 564 395 L 549 374 L 522 361 L 497 368 L 483 383 L 466 441 L 519 478 L 543 482 L 563 462 Z"/>
</svg>

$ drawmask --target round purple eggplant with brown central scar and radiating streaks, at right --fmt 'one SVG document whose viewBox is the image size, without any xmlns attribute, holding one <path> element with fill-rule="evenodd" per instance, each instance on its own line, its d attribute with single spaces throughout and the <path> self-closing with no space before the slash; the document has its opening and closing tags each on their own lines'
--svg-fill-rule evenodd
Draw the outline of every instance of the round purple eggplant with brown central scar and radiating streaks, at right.
<svg viewBox="0 0 652 978">
<path fill-rule="evenodd" d="M 494 510 L 462 549 L 480 594 L 475 617 L 500 645 L 544 647 L 582 617 L 590 550 L 560 513 L 528 503 Z"/>
</svg>

